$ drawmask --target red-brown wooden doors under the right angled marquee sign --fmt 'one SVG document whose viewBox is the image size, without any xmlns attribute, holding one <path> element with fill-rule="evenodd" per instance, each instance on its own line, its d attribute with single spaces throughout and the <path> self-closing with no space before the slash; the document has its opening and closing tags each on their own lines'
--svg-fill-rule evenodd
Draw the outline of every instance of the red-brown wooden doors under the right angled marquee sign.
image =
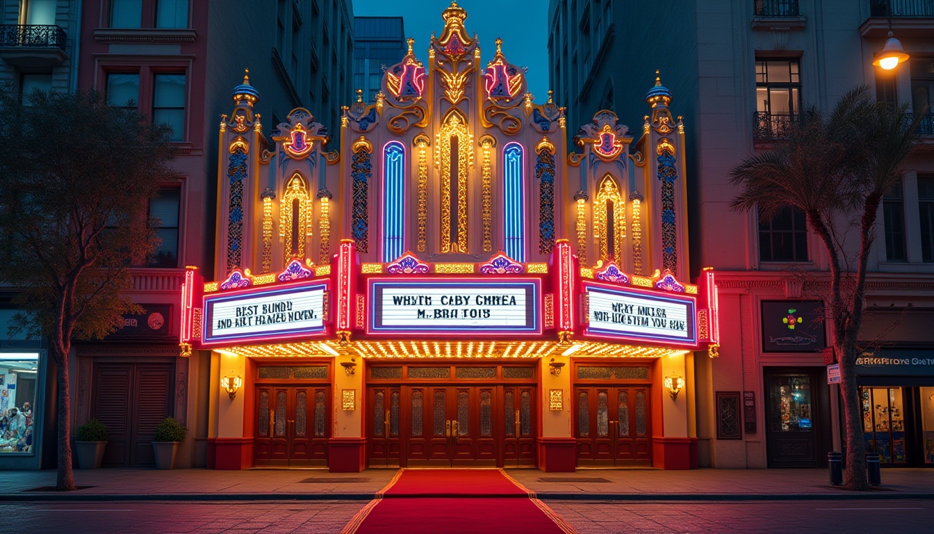
<svg viewBox="0 0 934 534">
<path fill-rule="evenodd" d="M 579 466 L 650 466 L 649 386 L 577 386 Z"/>
</svg>

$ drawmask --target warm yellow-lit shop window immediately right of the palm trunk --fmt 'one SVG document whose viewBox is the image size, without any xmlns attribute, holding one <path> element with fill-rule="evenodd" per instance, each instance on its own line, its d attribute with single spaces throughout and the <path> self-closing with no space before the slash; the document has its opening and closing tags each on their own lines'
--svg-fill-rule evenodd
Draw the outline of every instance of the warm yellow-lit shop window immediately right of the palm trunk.
<svg viewBox="0 0 934 534">
<path fill-rule="evenodd" d="M 884 464 L 904 464 L 905 420 L 900 387 L 864 387 L 859 392 L 863 409 L 866 450 L 879 454 Z"/>
</svg>

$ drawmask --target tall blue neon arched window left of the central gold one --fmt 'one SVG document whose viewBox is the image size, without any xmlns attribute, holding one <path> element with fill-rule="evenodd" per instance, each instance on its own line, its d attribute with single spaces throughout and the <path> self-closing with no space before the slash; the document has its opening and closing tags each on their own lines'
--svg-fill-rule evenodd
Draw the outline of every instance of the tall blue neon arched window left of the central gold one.
<svg viewBox="0 0 934 534">
<path fill-rule="evenodd" d="M 405 149 L 389 141 L 383 149 L 383 261 L 403 255 L 405 215 Z"/>
</svg>

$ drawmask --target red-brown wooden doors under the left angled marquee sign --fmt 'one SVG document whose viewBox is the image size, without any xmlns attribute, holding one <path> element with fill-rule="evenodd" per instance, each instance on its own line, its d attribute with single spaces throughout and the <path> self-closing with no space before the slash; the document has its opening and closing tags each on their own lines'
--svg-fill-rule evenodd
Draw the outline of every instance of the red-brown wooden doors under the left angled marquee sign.
<svg viewBox="0 0 934 534">
<path fill-rule="evenodd" d="M 256 386 L 253 465 L 326 466 L 330 429 L 330 386 Z"/>
</svg>

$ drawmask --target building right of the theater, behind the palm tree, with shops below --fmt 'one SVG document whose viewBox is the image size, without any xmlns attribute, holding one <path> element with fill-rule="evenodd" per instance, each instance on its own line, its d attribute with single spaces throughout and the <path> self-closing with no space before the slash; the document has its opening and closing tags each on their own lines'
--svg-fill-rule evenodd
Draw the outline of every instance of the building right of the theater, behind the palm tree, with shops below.
<svg viewBox="0 0 934 534">
<path fill-rule="evenodd" d="M 923 325 L 934 319 L 934 11 L 869 0 L 552 0 L 549 24 L 552 86 L 566 94 L 570 118 L 615 106 L 638 121 L 644 111 L 633 99 L 657 69 L 684 115 L 691 265 L 715 267 L 721 324 L 730 325 L 720 357 L 696 360 L 701 465 L 820 466 L 842 447 L 820 316 L 826 253 L 793 210 L 771 221 L 731 211 L 729 169 L 782 142 L 805 103 L 831 108 L 860 84 L 927 113 L 922 144 L 878 214 L 861 334 L 868 348 L 857 372 L 870 450 L 884 465 L 932 465 L 934 338 Z M 911 59 L 884 71 L 871 61 L 890 29 Z M 630 46 L 659 38 L 664 46 Z"/>
</svg>

